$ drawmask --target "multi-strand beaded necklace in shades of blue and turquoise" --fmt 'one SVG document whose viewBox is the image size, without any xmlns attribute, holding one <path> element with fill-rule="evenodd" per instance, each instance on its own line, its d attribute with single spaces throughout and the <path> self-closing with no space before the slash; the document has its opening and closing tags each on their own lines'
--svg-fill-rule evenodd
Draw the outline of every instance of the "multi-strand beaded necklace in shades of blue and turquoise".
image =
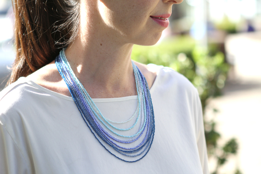
<svg viewBox="0 0 261 174">
<path fill-rule="evenodd" d="M 60 55 L 55 59 L 55 64 L 61 76 L 71 93 L 71 96 L 78 107 L 83 120 L 91 130 L 99 143 L 112 155 L 125 162 L 136 162 L 141 160 L 149 151 L 155 132 L 154 111 L 148 88 L 147 81 L 140 70 L 132 62 L 132 68 L 135 76 L 136 90 L 138 94 L 138 104 L 135 112 L 130 119 L 122 122 L 116 122 L 105 118 L 92 98 L 89 96 L 81 82 L 75 76 L 66 57 L 65 48 L 61 50 Z M 136 120 L 132 126 L 126 129 L 120 129 L 113 124 L 125 124 L 130 122 L 136 116 Z M 133 135 L 122 135 L 119 132 L 128 132 L 137 126 L 138 121 L 140 126 Z M 118 133 L 117 133 L 118 132 Z M 133 131 L 132 131 L 133 132 Z M 113 136 L 114 135 L 114 136 Z M 137 141 L 138 140 L 138 141 Z M 134 144 L 140 142 L 138 145 L 132 147 L 124 147 L 124 144 Z M 106 148 L 109 145 L 112 150 Z M 137 144 L 137 143 L 136 143 Z M 110 148 L 110 149 L 111 149 Z M 117 152 L 127 159 L 136 157 L 135 160 L 126 160 L 114 154 Z M 138 159 L 137 159 L 138 157 Z"/>
</svg>

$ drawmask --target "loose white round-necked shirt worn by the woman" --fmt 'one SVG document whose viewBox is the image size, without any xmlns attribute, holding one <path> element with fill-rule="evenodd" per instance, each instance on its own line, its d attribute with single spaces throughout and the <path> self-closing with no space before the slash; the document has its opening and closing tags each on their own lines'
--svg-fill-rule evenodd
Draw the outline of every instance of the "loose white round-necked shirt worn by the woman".
<svg viewBox="0 0 261 174">
<path fill-rule="evenodd" d="M 0 173 L 209 174 L 196 88 L 174 70 L 150 66 L 158 70 L 150 89 L 155 136 L 143 159 L 127 163 L 112 156 L 71 97 L 21 77 L 0 93 Z M 106 118 L 124 121 L 137 96 L 93 101 Z"/>
</svg>

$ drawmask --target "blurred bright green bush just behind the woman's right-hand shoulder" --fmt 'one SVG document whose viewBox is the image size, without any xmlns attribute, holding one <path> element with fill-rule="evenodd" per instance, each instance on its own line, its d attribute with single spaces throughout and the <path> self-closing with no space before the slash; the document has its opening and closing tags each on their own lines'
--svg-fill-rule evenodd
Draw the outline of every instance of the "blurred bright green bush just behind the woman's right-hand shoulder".
<svg viewBox="0 0 261 174">
<path fill-rule="evenodd" d="M 134 45 L 131 56 L 140 63 L 163 65 L 186 76 L 197 88 L 203 110 L 208 98 L 221 94 L 229 70 L 217 45 L 209 45 L 206 51 L 196 47 L 189 36 L 171 38 L 150 47 Z"/>
</svg>

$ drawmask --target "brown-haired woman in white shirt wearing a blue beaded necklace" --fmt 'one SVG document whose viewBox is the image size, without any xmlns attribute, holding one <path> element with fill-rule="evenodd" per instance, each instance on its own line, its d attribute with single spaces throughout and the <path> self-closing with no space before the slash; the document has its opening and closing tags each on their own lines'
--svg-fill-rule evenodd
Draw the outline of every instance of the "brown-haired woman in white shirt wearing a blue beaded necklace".
<svg viewBox="0 0 261 174">
<path fill-rule="evenodd" d="M 196 89 L 130 59 L 133 44 L 159 40 L 181 1 L 16 0 L 1 172 L 208 174 Z"/>
</svg>

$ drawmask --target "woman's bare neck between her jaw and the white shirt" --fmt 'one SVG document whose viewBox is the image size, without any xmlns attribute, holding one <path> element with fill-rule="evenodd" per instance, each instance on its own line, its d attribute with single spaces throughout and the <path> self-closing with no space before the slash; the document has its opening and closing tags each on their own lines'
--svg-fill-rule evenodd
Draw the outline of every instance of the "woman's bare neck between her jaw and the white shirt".
<svg viewBox="0 0 261 174">
<path fill-rule="evenodd" d="M 85 29 L 65 50 L 75 75 L 92 98 L 136 95 L 130 59 L 133 44 L 113 42 L 115 38 L 103 32 L 93 35 L 94 29 Z"/>
</svg>

